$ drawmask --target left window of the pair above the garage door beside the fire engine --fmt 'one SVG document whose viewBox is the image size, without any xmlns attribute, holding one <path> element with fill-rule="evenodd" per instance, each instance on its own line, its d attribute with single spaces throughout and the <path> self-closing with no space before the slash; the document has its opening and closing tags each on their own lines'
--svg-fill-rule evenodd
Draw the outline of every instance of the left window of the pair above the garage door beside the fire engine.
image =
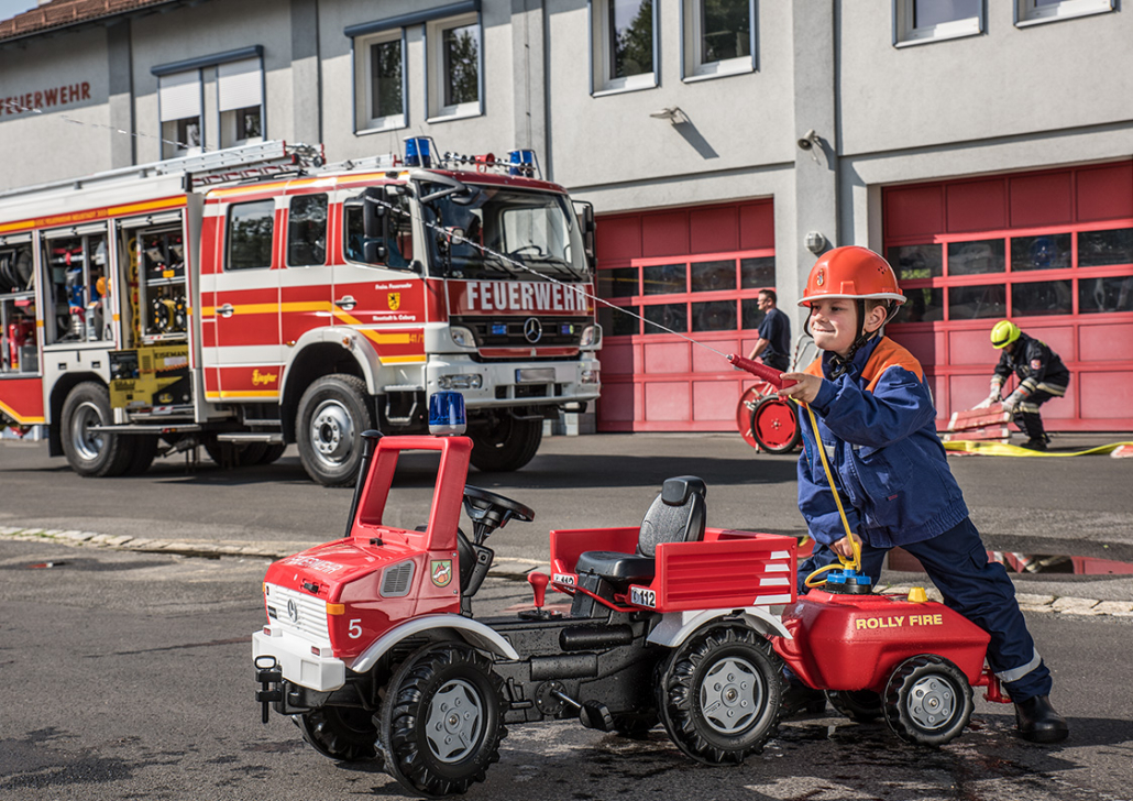
<svg viewBox="0 0 1133 801">
<path fill-rule="evenodd" d="M 653 0 L 593 0 L 590 18 L 595 94 L 656 86 Z"/>
</svg>

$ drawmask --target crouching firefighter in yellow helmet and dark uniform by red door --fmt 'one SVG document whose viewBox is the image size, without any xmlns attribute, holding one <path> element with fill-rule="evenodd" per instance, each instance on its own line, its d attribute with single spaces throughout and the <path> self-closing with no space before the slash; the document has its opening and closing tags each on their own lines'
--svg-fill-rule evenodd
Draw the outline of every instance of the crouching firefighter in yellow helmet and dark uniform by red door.
<svg viewBox="0 0 1133 801">
<path fill-rule="evenodd" d="M 991 376 L 991 393 L 976 408 L 998 402 L 1003 385 L 1014 373 L 1019 377 L 1019 386 L 1003 400 L 1003 408 L 1014 416 L 1015 425 L 1026 434 L 1023 448 L 1047 450 L 1050 437 L 1042 427 L 1039 407 L 1051 398 L 1066 394 L 1070 370 L 1046 342 L 1028 336 L 1010 319 L 1000 319 L 991 329 L 991 347 L 1003 353 Z"/>
</svg>

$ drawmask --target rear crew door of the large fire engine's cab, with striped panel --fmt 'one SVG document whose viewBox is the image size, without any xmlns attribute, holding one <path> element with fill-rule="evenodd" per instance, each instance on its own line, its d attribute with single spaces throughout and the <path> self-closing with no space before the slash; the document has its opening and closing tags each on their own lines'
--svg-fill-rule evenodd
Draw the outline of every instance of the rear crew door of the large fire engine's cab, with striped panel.
<svg viewBox="0 0 1133 801">
<path fill-rule="evenodd" d="M 213 275 L 215 359 L 220 398 L 279 398 L 284 346 L 280 339 L 282 210 L 275 198 L 232 203 L 224 210 Z M 220 221 L 218 221 L 220 222 Z M 207 301 L 205 301 L 207 302 Z"/>
</svg>

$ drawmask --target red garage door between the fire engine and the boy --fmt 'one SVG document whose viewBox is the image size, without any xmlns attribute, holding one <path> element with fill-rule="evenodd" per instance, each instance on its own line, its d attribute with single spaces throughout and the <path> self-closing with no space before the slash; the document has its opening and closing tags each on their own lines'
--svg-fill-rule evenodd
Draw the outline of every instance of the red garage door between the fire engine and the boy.
<svg viewBox="0 0 1133 801">
<path fill-rule="evenodd" d="M 731 431 L 750 384 L 723 357 L 747 355 L 775 286 L 770 201 L 667 208 L 598 221 L 604 332 L 598 431 Z M 646 322 L 648 321 L 648 322 Z"/>
</svg>

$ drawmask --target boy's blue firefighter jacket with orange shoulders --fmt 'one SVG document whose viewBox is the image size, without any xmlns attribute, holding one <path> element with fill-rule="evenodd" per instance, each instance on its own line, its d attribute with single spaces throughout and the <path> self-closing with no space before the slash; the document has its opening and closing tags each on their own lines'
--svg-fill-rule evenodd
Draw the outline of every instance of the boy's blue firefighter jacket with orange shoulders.
<svg viewBox="0 0 1133 801">
<path fill-rule="evenodd" d="M 830 380 L 826 352 L 807 368 L 823 377 L 811 402 L 850 528 L 888 548 L 930 539 L 968 517 L 963 494 L 936 435 L 936 410 L 920 363 L 887 336 L 870 340 L 850 369 Z M 799 409 L 799 510 L 810 536 L 827 545 L 845 530 L 815 432 Z"/>
</svg>

